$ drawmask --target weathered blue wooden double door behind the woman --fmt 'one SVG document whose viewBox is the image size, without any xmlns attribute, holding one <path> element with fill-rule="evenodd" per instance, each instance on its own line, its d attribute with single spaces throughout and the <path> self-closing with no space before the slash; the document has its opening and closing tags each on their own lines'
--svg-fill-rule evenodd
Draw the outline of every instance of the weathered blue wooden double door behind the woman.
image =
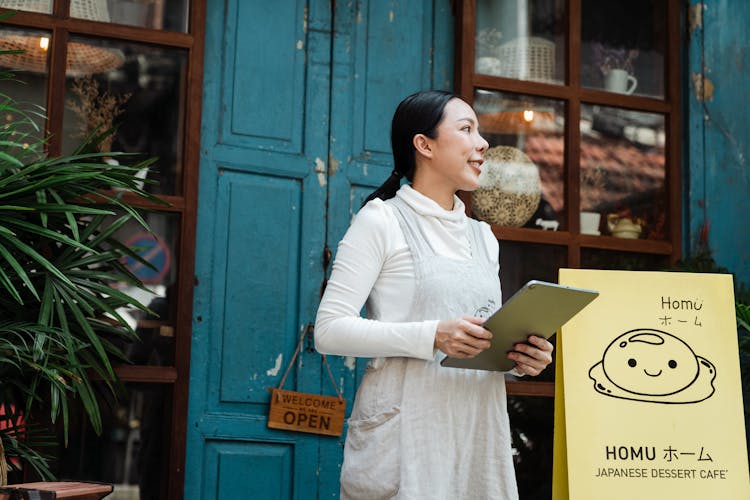
<svg viewBox="0 0 750 500">
<path fill-rule="evenodd" d="M 343 436 L 268 429 L 267 388 L 390 172 L 395 104 L 449 85 L 437 3 L 208 1 L 185 498 L 338 498 Z M 308 345 L 285 388 L 331 395 Z M 331 364 L 351 406 L 361 363 Z"/>
</svg>

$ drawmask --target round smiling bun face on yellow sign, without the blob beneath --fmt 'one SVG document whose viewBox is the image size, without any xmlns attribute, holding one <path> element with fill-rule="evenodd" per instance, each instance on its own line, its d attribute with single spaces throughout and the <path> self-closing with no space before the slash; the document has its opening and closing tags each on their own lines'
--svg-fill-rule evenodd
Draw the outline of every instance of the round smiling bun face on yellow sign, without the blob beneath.
<svg viewBox="0 0 750 500">
<path fill-rule="evenodd" d="M 604 351 L 604 373 L 634 394 L 666 396 L 698 377 L 698 359 L 682 340 L 657 330 L 635 330 L 617 337 Z"/>
</svg>

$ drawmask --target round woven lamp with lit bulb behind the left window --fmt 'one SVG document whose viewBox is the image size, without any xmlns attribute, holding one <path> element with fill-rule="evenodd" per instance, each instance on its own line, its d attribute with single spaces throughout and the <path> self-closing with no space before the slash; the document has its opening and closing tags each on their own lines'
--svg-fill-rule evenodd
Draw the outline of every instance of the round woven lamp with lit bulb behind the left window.
<svg viewBox="0 0 750 500">
<path fill-rule="evenodd" d="M 52 0 L 0 0 L 0 7 L 27 12 L 49 14 Z M 76 19 L 109 22 L 107 2 L 100 0 L 71 0 L 70 15 Z M 49 39 L 24 33 L 21 30 L 0 30 L 0 50 L 21 50 L 20 54 L 6 54 L 0 63 L 9 68 L 47 72 Z M 81 76 L 103 73 L 118 68 L 124 62 L 119 50 L 97 47 L 80 42 L 68 42 L 66 75 Z"/>
</svg>

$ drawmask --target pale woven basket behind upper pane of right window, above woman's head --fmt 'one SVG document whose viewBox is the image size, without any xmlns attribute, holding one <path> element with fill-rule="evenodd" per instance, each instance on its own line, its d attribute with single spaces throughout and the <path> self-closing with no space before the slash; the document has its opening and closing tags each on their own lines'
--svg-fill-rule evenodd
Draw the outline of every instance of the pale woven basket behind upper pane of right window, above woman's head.
<svg viewBox="0 0 750 500">
<path fill-rule="evenodd" d="M 498 48 L 499 76 L 552 83 L 555 76 L 555 44 L 536 36 L 520 37 Z"/>
</svg>

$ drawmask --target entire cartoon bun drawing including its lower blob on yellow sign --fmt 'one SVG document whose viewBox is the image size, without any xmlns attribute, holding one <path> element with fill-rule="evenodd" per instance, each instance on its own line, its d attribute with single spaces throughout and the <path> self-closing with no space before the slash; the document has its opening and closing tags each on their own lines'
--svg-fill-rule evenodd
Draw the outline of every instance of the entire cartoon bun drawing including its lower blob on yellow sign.
<svg viewBox="0 0 750 500">
<path fill-rule="evenodd" d="M 654 403 L 696 403 L 714 393 L 716 368 L 682 339 L 660 330 L 623 333 L 589 370 L 604 395 Z"/>
</svg>

